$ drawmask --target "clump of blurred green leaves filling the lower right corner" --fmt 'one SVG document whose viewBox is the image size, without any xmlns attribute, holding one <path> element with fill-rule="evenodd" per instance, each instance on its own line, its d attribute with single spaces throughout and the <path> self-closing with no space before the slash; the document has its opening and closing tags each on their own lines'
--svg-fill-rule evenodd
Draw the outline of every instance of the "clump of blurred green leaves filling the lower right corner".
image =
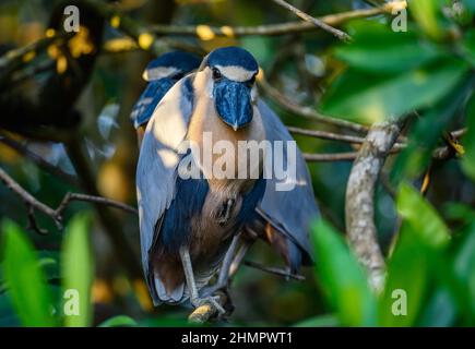
<svg viewBox="0 0 475 349">
<path fill-rule="evenodd" d="M 340 234 L 324 221 L 316 225 L 317 277 L 339 323 L 474 326 L 475 212 L 471 210 L 468 221 L 451 232 L 434 207 L 408 184 L 401 185 L 397 210 L 403 217 L 402 227 L 378 300 Z M 401 309 L 400 301 L 404 304 Z"/>
</svg>

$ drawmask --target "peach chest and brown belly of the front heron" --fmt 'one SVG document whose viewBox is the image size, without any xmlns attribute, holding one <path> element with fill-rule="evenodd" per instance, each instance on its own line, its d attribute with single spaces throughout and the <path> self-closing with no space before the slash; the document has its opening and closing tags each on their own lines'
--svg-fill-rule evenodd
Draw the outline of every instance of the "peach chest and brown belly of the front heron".
<svg viewBox="0 0 475 349">
<path fill-rule="evenodd" d="M 262 173 L 263 124 L 254 108 L 251 123 L 235 131 L 219 119 L 212 103 L 198 101 L 187 140 L 209 183 L 203 208 L 193 224 L 195 249 L 215 250 L 233 233 L 242 198 Z"/>
</svg>

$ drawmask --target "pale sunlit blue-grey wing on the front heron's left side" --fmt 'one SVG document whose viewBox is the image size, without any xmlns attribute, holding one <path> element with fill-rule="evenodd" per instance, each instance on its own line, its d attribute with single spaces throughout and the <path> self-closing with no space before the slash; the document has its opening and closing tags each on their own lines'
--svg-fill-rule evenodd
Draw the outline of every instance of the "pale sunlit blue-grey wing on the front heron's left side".
<svg viewBox="0 0 475 349">
<path fill-rule="evenodd" d="M 151 272 L 149 251 L 158 233 L 155 227 L 175 195 L 176 169 L 180 160 L 178 148 L 187 135 L 192 113 L 189 79 L 176 83 L 157 105 L 140 151 L 135 180 L 142 266 L 147 280 Z"/>
</svg>

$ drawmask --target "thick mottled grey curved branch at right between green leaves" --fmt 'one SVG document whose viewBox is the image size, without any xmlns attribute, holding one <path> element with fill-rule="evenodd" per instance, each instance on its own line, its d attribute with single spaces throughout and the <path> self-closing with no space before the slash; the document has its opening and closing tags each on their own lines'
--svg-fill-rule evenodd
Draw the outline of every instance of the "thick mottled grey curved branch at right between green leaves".
<svg viewBox="0 0 475 349">
<path fill-rule="evenodd" d="M 399 134 L 399 124 L 392 122 L 375 124 L 370 129 L 353 164 L 346 188 L 346 234 L 377 292 L 384 284 L 385 265 L 375 226 L 375 186 Z"/>
</svg>

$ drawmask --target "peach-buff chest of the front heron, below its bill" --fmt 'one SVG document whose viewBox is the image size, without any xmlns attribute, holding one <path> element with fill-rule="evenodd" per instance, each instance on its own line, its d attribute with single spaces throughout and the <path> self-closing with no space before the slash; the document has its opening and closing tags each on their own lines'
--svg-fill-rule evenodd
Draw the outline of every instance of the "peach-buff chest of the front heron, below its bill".
<svg viewBox="0 0 475 349">
<path fill-rule="evenodd" d="M 246 191 L 262 172 L 265 132 L 257 108 L 250 124 L 235 131 L 221 120 L 211 99 L 201 98 L 187 140 L 211 191 Z"/>
</svg>

